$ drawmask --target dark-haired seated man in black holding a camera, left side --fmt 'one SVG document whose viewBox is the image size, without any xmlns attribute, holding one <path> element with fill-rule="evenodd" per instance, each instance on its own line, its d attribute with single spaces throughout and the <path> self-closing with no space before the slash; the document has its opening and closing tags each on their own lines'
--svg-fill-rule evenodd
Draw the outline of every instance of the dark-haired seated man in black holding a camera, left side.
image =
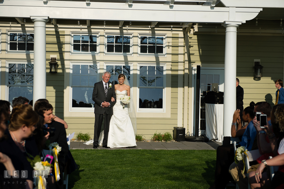
<svg viewBox="0 0 284 189">
<path fill-rule="evenodd" d="M 67 155 L 69 148 L 66 139 L 66 131 L 64 125 L 57 121 L 53 121 L 53 107 L 50 103 L 47 102 L 38 102 L 35 103 L 35 111 L 44 116 L 44 126 L 49 128 L 55 128 L 53 134 L 50 134 L 49 140 L 50 143 L 57 142 L 61 147 L 61 152 L 58 155 L 58 164 L 59 164 L 59 172 L 60 172 L 60 180 L 57 182 L 58 188 L 63 188 L 63 172 L 65 167 L 65 156 Z M 53 169 L 53 175 L 54 169 Z"/>
</svg>

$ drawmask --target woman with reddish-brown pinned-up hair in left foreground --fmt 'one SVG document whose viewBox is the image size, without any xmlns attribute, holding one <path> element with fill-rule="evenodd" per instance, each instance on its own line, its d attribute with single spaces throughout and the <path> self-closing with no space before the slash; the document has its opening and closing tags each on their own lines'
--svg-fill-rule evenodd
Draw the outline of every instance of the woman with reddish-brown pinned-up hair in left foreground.
<svg viewBox="0 0 284 189">
<path fill-rule="evenodd" d="M 9 130 L 5 131 L 6 139 L 0 142 L 0 152 L 6 154 L 12 161 L 15 170 L 27 170 L 28 178 L 22 180 L 26 188 L 33 188 L 33 167 L 27 160 L 30 153 L 26 150 L 26 139 L 33 135 L 38 115 L 30 105 L 15 105 L 10 117 Z M 31 157 L 30 157 L 31 158 Z M 0 165 L 0 172 L 5 168 Z"/>
</svg>

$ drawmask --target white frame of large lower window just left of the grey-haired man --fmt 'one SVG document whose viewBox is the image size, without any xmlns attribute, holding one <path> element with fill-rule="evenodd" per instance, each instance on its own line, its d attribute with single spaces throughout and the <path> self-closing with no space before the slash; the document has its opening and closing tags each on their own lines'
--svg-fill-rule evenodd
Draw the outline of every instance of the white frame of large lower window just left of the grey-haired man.
<svg viewBox="0 0 284 189">
<path fill-rule="evenodd" d="M 70 61 L 70 73 L 69 73 L 69 76 L 70 76 L 70 82 L 69 82 L 69 112 L 94 112 L 94 108 L 74 108 L 72 107 L 72 73 L 73 73 L 73 70 L 72 70 L 72 67 L 73 65 L 96 65 L 97 66 L 97 79 L 96 79 L 96 82 L 99 81 L 99 62 L 75 62 L 75 61 Z M 95 84 L 95 83 L 93 83 Z M 75 86 L 77 87 L 77 86 Z M 89 87 L 89 88 L 92 88 L 93 85 L 91 86 L 78 86 L 78 87 Z"/>
</svg>

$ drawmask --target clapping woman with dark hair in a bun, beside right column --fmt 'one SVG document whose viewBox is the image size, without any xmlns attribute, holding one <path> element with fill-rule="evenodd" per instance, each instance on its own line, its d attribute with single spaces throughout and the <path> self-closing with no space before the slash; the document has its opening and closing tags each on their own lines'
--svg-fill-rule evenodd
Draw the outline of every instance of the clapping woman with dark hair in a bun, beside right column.
<svg viewBox="0 0 284 189">
<path fill-rule="evenodd" d="M 246 107 L 243 110 L 243 121 L 252 124 L 252 120 L 254 119 L 254 102 L 250 103 L 250 106 Z M 238 123 L 238 130 L 236 130 L 236 124 Z M 244 126 L 245 128 L 249 125 Z M 239 137 L 244 134 L 246 129 L 242 129 L 240 125 L 240 114 L 239 110 L 236 110 L 233 115 L 233 122 L 231 126 L 231 135 L 232 137 Z M 247 141 L 242 141 L 240 143 L 246 143 Z M 243 144 L 242 144 L 243 145 Z M 217 157 L 216 157 L 216 168 L 215 168 L 215 180 L 210 189 L 223 189 L 226 188 L 227 183 L 232 180 L 230 174 L 228 174 L 228 170 L 230 165 L 234 162 L 235 151 L 233 144 L 223 144 L 217 148 Z"/>
</svg>

